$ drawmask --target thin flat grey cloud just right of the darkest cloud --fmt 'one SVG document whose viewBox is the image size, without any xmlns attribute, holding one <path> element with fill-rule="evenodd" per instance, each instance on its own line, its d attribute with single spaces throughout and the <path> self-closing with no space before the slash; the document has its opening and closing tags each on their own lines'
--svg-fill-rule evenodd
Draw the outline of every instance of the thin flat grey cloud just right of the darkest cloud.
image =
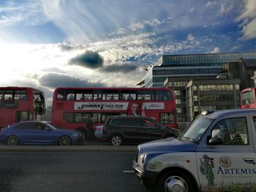
<svg viewBox="0 0 256 192">
<path fill-rule="evenodd" d="M 121 73 L 128 73 L 133 72 L 138 68 L 136 64 L 112 64 L 108 66 L 104 66 L 104 68 L 100 69 L 102 72 L 121 72 Z"/>
</svg>

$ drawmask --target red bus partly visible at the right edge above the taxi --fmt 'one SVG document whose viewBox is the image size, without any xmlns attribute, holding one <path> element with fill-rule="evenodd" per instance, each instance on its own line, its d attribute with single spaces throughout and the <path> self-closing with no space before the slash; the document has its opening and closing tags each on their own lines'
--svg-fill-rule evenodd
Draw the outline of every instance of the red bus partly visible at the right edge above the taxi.
<svg viewBox="0 0 256 192">
<path fill-rule="evenodd" d="M 241 108 L 256 108 L 256 88 L 245 88 L 241 91 Z"/>
</svg>

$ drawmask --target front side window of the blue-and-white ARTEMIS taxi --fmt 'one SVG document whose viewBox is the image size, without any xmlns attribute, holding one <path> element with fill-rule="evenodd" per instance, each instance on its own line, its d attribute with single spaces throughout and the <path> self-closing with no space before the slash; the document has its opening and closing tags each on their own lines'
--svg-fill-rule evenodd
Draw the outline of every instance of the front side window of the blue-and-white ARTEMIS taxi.
<svg viewBox="0 0 256 192">
<path fill-rule="evenodd" d="M 222 145 L 248 145 L 246 118 L 220 120 L 211 131 L 211 137 L 221 139 Z"/>
</svg>

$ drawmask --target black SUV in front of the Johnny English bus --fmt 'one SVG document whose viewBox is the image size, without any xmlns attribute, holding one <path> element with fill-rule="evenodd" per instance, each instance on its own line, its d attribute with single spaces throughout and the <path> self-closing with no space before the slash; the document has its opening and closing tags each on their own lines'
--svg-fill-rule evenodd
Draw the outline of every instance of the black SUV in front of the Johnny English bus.
<svg viewBox="0 0 256 192">
<path fill-rule="evenodd" d="M 147 142 L 167 137 L 179 137 L 180 131 L 163 126 L 152 118 L 141 116 L 116 116 L 108 118 L 102 139 L 108 139 L 112 145 L 123 142 Z"/>
</svg>

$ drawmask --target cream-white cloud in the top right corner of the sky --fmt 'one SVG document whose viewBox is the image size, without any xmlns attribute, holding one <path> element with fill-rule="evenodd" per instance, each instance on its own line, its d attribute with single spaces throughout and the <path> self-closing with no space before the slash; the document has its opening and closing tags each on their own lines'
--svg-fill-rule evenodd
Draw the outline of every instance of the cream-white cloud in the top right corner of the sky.
<svg viewBox="0 0 256 192">
<path fill-rule="evenodd" d="M 244 12 L 236 18 L 236 21 L 242 21 L 241 27 L 243 37 L 242 39 L 256 38 L 256 1 L 247 0 L 244 4 Z"/>
</svg>

